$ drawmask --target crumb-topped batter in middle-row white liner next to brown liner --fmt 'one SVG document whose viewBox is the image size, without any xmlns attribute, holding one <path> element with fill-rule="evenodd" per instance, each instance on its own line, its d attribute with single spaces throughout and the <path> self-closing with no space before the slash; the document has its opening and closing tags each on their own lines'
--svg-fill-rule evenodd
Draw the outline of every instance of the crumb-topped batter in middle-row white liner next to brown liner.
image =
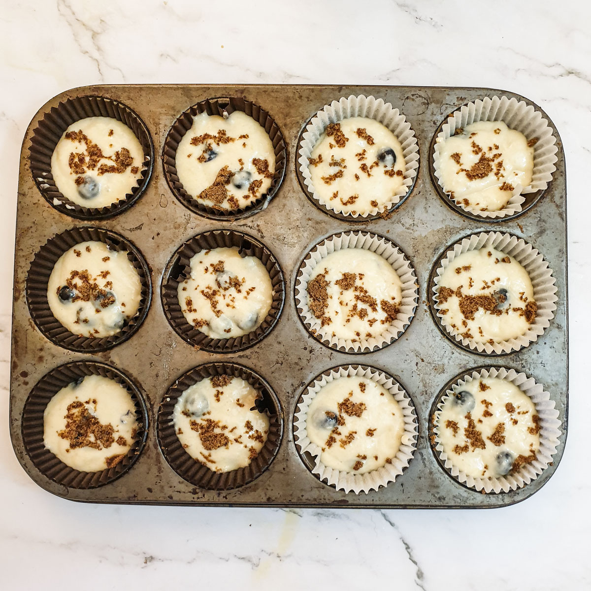
<svg viewBox="0 0 591 591">
<path fill-rule="evenodd" d="M 345 248 L 314 267 L 307 293 L 320 333 L 359 342 L 381 335 L 396 319 L 402 283 L 382 256 Z"/>
</svg>

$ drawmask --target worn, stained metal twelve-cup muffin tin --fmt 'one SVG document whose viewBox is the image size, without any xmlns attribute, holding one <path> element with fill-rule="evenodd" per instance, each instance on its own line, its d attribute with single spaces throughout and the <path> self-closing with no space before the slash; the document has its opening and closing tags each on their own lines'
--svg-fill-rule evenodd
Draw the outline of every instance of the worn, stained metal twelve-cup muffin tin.
<svg viewBox="0 0 591 591">
<path fill-rule="evenodd" d="M 309 119 L 332 100 L 361 94 L 383 98 L 400 109 L 420 147 L 415 185 L 389 219 L 329 216 L 311 202 L 298 182 L 298 141 Z M 553 180 L 531 207 L 512 219 L 472 220 L 452 210 L 430 176 L 432 141 L 438 126 L 470 100 L 493 95 L 525 100 L 545 116 L 521 96 L 484 88 L 113 85 L 73 89 L 51 99 L 34 116 L 22 144 L 15 248 L 10 430 L 18 460 L 34 482 L 76 501 L 210 506 L 483 508 L 511 505 L 538 491 L 560 462 L 568 419 L 566 176 L 560 137 L 548 119 L 558 147 Z M 143 193 L 128 209 L 109 219 L 60 212 L 44 198 L 31 174 L 31 139 L 40 122 L 61 103 L 70 100 L 75 105 L 88 96 L 114 99 L 128 107 L 145 124 L 154 144 L 155 165 Z M 211 219 L 187 209 L 171 192 L 163 169 L 165 139 L 177 118 L 197 103 L 224 97 L 245 99 L 268 112 L 287 146 L 287 167 L 278 189 L 251 215 L 238 219 Z M 252 236 L 272 252 L 284 274 L 281 316 L 271 332 L 248 349 L 210 353 L 185 342 L 171 328 L 160 298 L 153 297 L 144 322 L 119 345 L 82 353 L 54 344 L 35 326 L 27 307 L 25 281 L 31 261 L 48 240 L 85 225 L 115 232 L 137 246 L 147 261 L 154 293 L 161 290 L 170 259 L 193 236 L 209 230 L 236 230 Z M 343 353 L 317 342 L 298 319 L 294 300 L 297 269 L 307 252 L 327 236 L 348 230 L 392 239 L 407 254 L 419 284 L 418 307 L 407 330 L 384 349 L 363 355 Z M 440 332 L 429 311 L 427 290 L 431 269 L 444 249 L 467 235 L 491 230 L 524 238 L 541 252 L 553 269 L 558 301 L 554 319 L 537 342 L 519 352 L 483 359 Z M 146 440 L 137 460 L 116 480 L 98 488 L 64 486 L 54 475 L 52 480 L 35 467 L 25 450 L 22 415 L 31 389 L 48 372 L 74 361 L 106 363 L 119 369 L 138 388 L 147 409 Z M 252 369 L 268 383 L 280 404 L 282 437 L 276 456 L 258 478 L 228 490 L 209 490 L 181 478 L 165 459 L 157 433 L 158 411 L 169 388 L 191 369 L 212 362 Z M 419 426 L 417 450 L 404 473 L 378 491 L 358 495 L 336 491 L 312 475 L 297 452 L 293 434 L 294 409 L 306 384 L 335 366 L 356 363 L 392 375 L 410 395 Z M 439 465 L 429 440 L 431 408 L 441 390 L 457 374 L 483 363 L 514 368 L 535 378 L 550 392 L 561 421 L 553 464 L 524 488 L 507 493 L 483 495 L 456 482 Z"/>
</svg>

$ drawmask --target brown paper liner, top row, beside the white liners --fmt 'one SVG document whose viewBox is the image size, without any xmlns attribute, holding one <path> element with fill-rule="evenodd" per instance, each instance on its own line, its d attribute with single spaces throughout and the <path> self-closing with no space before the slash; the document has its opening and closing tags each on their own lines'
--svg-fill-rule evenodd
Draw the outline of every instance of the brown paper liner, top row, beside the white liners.
<svg viewBox="0 0 591 591">
<path fill-rule="evenodd" d="M 249 117 L 252 117 L 269 135 L 275 150 L 275 173 L 273 174 L 271 186 L 267 190 L 267 193 L 261 194 L 256 201 L 247 207 L 230 211 L 226 209 L 215 209 L 204 203 L 200 203 L 187 193 L 183 187 L 183 183 L 181 183 L 178 178 L 176 154 L 181 139 L 183 139 L 183 136 L 193 126 L 194 116 L 199 115 L 199 113 L 207 113 L 208 115 L 219 115 L 224 117 L 230 115 L 234 111 L 242 111 Z M 173 126 L 168 131 L 166 139 L 164 140 L 162 161 L 164 166 L 164 178 L 166 179 L 170 190 L 173 191 L 174 196 L 185 207 L 189 208 L 192 212 L 199 213 L 210 219 L 234 220 L 242 219 L 243 217 L 248 217 L 261 212 L 268 207 L 269 203 L 271 203 L 271 200 L 277 194 L 283 178 L 285 177 L 287 147 L 285 146 L 285 140 L 283 139 L 281 129 L 267 111 L 243 97 L 230 96 L 202 100 L 187 109 L 184 113 L 181 113 L 173 123 Z"/>
</svg>

